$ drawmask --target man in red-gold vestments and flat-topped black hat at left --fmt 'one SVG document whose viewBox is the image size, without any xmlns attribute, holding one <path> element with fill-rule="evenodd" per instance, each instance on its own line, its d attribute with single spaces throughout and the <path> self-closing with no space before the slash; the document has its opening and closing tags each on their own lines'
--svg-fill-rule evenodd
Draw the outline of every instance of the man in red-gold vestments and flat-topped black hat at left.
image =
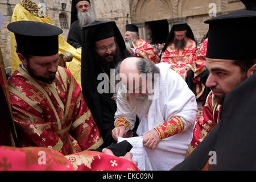
<svg viewBox="0 0 256 182">
<path fill-rule="evenodd" d="M 80 86 L 68 69 L 59 67 L 63 31 L 32 21 L 7 28 L 14 32 L 22 61 L 8 80 L 19 146 L 48 147 L 64 155 L 100 147 L 103 140 Z"/>
</svg>

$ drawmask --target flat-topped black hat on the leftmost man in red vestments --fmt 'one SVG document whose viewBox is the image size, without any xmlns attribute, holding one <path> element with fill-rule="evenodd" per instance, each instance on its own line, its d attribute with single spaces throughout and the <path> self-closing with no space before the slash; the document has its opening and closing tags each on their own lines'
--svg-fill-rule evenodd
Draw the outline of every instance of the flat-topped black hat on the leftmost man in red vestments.
<svg viewBox="0 0 256 182">
<path fill-rule="evenodd" d="M 52 56 L 59 52 L 59 34 L 63 30 L 51 24 L 19 21 L 8 24 L 14 32 L 20 53 L 33 56 Z"/>
</svg>

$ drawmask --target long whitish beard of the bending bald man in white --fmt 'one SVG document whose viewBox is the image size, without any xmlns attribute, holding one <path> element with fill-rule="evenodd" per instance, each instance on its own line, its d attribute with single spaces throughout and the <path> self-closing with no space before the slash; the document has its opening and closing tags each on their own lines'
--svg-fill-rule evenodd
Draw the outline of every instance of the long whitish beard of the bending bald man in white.
<svg viewBox="0 0 256 182">
<path fill-rule="evenodd" d="M 128 94 L 129 106 L 136 114 L 147 115 L 150 109 L 152 100 L 148 99 L 148 96 L 135 97 L 134 94 Z"/>
</svg>

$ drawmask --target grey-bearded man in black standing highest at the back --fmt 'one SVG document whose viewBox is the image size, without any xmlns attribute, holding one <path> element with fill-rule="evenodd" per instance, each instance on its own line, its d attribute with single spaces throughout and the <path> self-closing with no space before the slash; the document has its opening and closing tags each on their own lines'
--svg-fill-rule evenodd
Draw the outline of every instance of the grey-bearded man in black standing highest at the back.
<svg viewBox="0 0 256 182">
<path fill-rule="evenodd" d="M 95 20 L 89 0 L 72 0 L 71 27 L 68 32 L 67 42 L 71 46 L 82 48 L 82 27 Z"/>
</svg>

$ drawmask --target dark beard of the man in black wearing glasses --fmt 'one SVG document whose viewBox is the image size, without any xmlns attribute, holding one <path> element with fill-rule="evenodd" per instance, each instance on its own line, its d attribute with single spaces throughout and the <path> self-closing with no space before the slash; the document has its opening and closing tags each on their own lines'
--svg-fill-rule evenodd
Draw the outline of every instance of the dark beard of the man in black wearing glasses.
<svg viewBox="0 0 256 182">
<path fill-rule="evenodd" d="M 113 55 L 113 60 L 106 61 L 105 57 L 101 57 L 96 51 L 94 51 L 93 57 L 96 63 L 96 68 L 100 66 L 100 68 L 103 68 L 105 72 L 110 72 L 110 69 L 114 69 L 117 64 L 122 61 L 121 51 L 118 46 L 115 49 L 115 53 L 112 52 L 110 55 Z M 108 56 L 108 54 L 105 56 Z"/>
</svg>

